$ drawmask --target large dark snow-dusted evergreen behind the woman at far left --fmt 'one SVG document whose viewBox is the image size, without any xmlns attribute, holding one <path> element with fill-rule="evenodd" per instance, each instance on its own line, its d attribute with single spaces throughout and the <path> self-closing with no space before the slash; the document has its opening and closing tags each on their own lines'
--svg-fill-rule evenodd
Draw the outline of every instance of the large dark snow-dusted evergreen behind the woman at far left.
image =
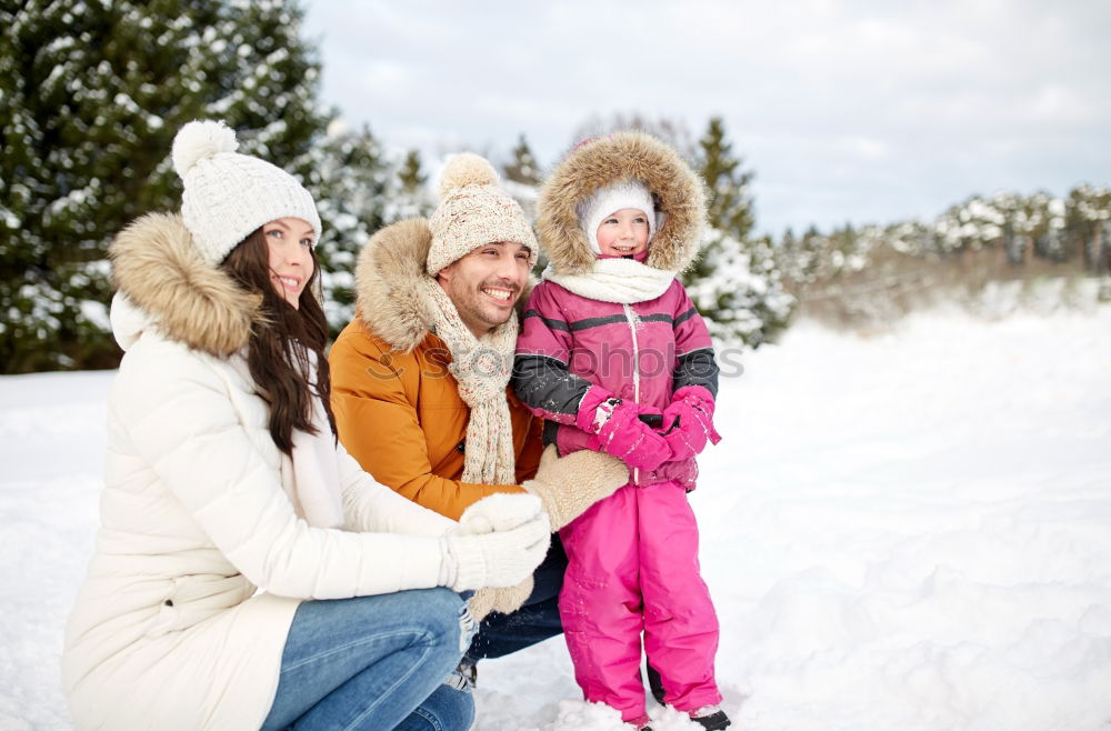
<svg viewBox="0 0 1111 731">
<path fill-rule="evenodd" d="M 223 119 L 311 166 L 319 62 L 296 0 L 27 0 L 0 10 L 0 369 L 111 366 L 107 244 L 172 210 L 170 143 Z"/>
</svg>

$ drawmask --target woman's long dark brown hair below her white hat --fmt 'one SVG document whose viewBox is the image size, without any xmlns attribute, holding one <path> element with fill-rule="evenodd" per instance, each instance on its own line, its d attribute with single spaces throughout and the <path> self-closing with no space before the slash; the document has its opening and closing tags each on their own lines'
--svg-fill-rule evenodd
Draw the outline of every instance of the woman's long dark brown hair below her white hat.
<svg viewBox="0 0 1111 731">
<path fill-rule="evenodd" d="M 247 363 L 259 395 L 270 407 L 270 435 L 278 449 L 293 452 L 293 430 L 317 433 L 312 399 L 319 397 L 336 435 L 328 359 L 328 320 L 312 293 L 320 267 L 312 254 L 312 276 L 294 309 L 274 290 L 270 279 L 270 248 L 259 228 L 248 234 L 220 264 L 241 287 L 262 298 L 259 319 L 251 329 Z M 311 382 L 309 351 L 316 353 L 317 380 Z"/>
</svg>

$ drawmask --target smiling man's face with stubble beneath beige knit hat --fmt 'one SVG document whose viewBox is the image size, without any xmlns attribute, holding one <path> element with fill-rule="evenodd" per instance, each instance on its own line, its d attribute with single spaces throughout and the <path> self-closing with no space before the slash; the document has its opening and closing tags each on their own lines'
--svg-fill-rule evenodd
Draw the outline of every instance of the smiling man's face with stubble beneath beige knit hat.
<svg viewBox="0 0 1111 731">
<path fill-rule="evenodd" d="M 494 241 L 453 261 L 437 276 L 463 323 L 481 338 L 509 320 L 529 280 L 529 249 Z"/>
</svg>

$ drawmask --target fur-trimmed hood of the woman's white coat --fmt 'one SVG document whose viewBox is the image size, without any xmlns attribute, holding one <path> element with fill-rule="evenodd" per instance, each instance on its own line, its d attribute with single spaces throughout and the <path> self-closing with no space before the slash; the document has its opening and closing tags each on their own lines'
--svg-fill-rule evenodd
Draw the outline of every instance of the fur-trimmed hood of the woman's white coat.
<svg viewBox="0 0 1111 731">
<path fill-rule="evenodd" d="M 217 358 L 248 344 L 258 296 L 201 259 L 179 214 L 136 219 L 116 237 L 109 254 L 119 289 L 112 330 L 124 350 L 149 327 Z"/>
</svg>

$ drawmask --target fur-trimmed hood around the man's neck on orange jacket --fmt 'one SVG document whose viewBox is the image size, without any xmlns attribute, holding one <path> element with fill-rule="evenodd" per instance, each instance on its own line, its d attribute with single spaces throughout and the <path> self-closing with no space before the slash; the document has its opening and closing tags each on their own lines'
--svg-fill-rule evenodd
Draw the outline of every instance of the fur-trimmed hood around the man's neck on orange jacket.
<svg viewBox="0 0 1111 731">
<path fill-rule="evenodd" d="M 423 342 L 436 322 L 436 304 L 420 287 L 431 246 L 427 219 L 398 221 L 370 237 L 356 264 L 359 319 L 400 352 Z M 517 301 L 518 316 L 531 289 L 529 281 Z"/>
</svg>

